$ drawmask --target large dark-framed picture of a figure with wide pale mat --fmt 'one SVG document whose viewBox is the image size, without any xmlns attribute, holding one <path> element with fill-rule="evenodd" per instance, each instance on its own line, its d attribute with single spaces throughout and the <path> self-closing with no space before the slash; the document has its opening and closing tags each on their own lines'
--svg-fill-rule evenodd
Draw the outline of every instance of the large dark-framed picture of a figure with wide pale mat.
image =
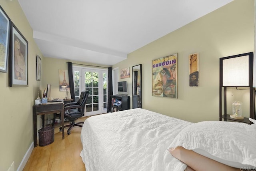
<svg viewBox="0 0 256 171">
<path fill-rule="evenodd" d="M 28 86 L 28 41 L 11 22 L 9 87 Z"/>
</svg>

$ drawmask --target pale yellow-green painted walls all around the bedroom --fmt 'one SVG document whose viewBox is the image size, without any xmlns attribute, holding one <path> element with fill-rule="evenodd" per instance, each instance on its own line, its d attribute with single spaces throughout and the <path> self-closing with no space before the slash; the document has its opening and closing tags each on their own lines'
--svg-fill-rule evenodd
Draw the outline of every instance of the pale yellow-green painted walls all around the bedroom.
<svg viewBox="0 0 256 171">
<path fill-rule="evenodd" d="M 13 161 L 15 170 L 18 168 L 33 142 L 32 105 L 38 96 L 38 90 L 42 94 L 49 83 L 52 84 L 51 96 L 65 97 L 65 92 L 58 90 L 58 70 L 67 69 L 66 62 L 69 60 L 42 56 L 34 42 L 32 28 L 17 0 L 0 0 L 0 5 L 28 40 L 29 86 L 8 87 L 8 73 L 0 73 L 0 170 L 5 171 Z M 253 51 L 253 7 L 253 0 L 235 0 L 130 53 L 127 60 L 112 68 L 122 69 L 142 64 L 145 109 L 192 122 L 218 120 L 219 58 Z M 199 52 L 200 56 L 199 87 L 188 86 L 188 55 L 194 52 Z M 178 53 L 178 99 L 152 96 L 152 60 L 174 53 Z M 36 55 L 42 58 L 41 81 L 36 81 Z M 132 78 L 122 80 L 128 81 L 131 97 Z M 38 129 L 40 124 L 38 116 Z"/>
</svg>

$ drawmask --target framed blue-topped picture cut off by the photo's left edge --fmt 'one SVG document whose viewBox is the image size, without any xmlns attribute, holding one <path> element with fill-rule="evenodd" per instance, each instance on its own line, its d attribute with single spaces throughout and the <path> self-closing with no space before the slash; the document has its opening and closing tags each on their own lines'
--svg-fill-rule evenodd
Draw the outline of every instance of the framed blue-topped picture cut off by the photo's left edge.
<svg viewBox="0 0 256 171">
<path fill-rule="evenodd" d="M 7 72 L 9 54 L 10 18 L 0 6 L 0 72 Z"/>
</svg>

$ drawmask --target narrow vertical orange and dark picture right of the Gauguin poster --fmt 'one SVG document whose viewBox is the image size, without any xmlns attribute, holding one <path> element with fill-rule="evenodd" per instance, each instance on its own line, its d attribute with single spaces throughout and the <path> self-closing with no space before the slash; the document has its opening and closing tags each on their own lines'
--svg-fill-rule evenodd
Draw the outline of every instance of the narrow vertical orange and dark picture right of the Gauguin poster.
<svg viewBox="0 0 256 171">
<path fill-rule="evenodd" d="M 199 85 L 199 53 L 189 55 L 189 86 Z"/>
</svg>

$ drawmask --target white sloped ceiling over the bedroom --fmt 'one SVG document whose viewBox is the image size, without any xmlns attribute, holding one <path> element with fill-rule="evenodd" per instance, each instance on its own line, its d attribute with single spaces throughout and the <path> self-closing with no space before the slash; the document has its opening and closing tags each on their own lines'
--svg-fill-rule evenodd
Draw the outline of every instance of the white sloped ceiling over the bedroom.
<svg viewBox="0 0 256 171">
<path fill-rule="evenodd" d="M 232 0 L 18 0 L 44 57 L 113 65 Z"/>
</svg>

